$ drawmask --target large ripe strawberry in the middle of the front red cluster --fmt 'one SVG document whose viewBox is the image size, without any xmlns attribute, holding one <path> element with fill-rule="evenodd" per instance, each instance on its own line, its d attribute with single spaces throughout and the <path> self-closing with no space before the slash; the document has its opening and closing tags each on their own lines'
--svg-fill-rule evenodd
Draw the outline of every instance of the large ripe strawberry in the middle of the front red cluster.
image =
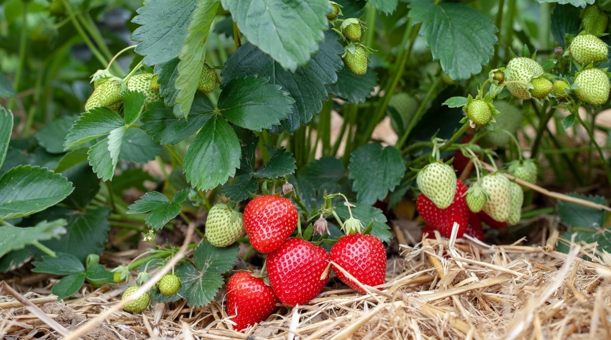
<svg viewBox="0 0 611 340">
<path fill-rule="evenodd" d="M 301 238 L 289 238 L 268 255 L 269 283 L 285 305 L 304 305 L 327 284 L 328 264 L 329 253 L 323 247 Z"/>
</svg>

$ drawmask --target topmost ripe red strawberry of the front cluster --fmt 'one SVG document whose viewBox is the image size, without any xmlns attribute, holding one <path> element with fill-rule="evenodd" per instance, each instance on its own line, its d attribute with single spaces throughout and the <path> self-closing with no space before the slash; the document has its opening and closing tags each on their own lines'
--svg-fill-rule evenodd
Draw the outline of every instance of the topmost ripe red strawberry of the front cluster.
<svg viewBox="0 0 611 340">
<path fill-rule="evenodd" d="M 297 227 L 297 209 L 288 198 L 264 195 L 252 199 L 244 208 L 244 229 L 259 253 L 271 253 Z"/>
</svg>

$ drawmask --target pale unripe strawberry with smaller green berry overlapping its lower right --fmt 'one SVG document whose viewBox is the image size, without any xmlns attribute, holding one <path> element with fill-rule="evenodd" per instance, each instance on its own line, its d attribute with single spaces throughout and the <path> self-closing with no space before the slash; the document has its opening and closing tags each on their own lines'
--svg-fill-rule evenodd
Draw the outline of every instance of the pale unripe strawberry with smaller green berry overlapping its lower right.
<svg viewBox="0 0 611 340">
<path fill-rule="evenodd" d="M 514 97 L 530 99 L 527 84 L 540 75 L 543 75 L 543 67 L 538 62 L 527 57 L 514 57 L 507 64 L 507 79 L 505 86 Z M 513 83 L 516 81 L 517 83 Z"/>
</svg>

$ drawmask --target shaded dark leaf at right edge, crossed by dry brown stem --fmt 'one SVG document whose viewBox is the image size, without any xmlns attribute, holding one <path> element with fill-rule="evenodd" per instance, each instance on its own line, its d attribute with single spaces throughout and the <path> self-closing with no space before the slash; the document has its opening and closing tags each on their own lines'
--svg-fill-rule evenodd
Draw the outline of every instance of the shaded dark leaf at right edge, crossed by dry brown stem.
<svg viewBox="0 0 611 340">
<path fill-rule="evenodd" d="M 607 202 L 601 196 L 584 196 L 577 193 L 569 193 L 568 196 L 607 205 Z M 568 227 L 595 229 L 604 224 L 605 212 L 603 210 L 592 209 L 566 201 L 558 201 L 556 210 L 562 224 Z"/>
</svg>

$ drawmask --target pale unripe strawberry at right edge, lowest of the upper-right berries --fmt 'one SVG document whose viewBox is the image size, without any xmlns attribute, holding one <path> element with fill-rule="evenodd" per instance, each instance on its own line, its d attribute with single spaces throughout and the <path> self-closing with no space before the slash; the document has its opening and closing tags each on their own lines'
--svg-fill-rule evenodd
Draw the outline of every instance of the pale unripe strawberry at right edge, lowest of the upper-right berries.
<svg viewBox="0 0 611 340">
<path fill-rule="evenodd" d="M 575 82 L 579 88 L 575 90 L 577 98 L 582 102 L 599 106 L 609 100 L 609 77 L 600 68 L 588 68 L 577 75 Z"/>
</svg>

